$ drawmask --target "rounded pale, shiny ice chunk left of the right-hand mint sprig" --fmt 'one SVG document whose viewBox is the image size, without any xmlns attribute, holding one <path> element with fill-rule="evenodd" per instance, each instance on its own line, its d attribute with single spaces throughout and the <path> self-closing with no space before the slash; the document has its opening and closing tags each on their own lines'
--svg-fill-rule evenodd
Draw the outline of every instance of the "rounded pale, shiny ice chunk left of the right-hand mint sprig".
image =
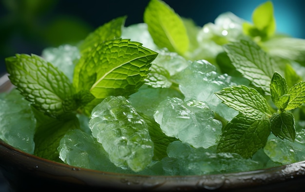
<svg viewBox="0 0 305 192">
<path fill-rule="evenodd" d="M 208 105 L 196 100 L 167 98 L 156 108 L 154 119 L 166 135 L 195 148 L 216 145 L 221 135 L 222 123 Z"/>
</svg>

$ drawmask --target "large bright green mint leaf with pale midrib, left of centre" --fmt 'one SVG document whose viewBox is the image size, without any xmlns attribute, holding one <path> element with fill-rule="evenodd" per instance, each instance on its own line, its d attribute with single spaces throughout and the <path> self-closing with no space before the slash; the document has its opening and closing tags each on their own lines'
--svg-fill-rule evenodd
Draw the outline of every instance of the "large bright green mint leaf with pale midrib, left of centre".
<svg viewBox="0 0 305 192">
<path fill-rule="evenodd" d="M 129 96 L 144 84 L 157 54 L 126 39 L 99 43 L 79 60 L 77 89 L 89 90 L 98 99 Z"/>
</svg>

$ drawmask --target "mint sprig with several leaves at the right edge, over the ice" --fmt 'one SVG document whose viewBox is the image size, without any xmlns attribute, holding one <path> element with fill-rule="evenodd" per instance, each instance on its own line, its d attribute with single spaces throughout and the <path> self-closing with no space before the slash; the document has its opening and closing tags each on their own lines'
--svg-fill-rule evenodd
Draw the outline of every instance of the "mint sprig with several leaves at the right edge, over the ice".
<svg viewBox="0 0 305 192">
<path fill-rule="evenodd" d="M 270 132 L 281 139 L 294 141 L 295 118 L 289 111 L 305 103 L 305 82 L 288 89 L 285 78 L 275 72 L 270 82 L 270 93 L 278 107 L 273 114 L 269 110 L 272 106 L 254 88 L 237 85 L 215 93 L 224 104 L 239 111 L 223 128 L 217 146 L 219 152 L 233 152 L 249 158 L 265 146 Z"/>
</svg>

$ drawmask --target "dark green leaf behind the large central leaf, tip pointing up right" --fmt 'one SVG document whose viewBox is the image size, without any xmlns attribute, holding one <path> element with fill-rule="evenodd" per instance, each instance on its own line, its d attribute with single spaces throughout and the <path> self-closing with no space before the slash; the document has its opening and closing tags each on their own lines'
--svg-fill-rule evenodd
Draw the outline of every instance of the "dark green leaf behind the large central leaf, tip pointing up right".
<svg viewBox="0 0 305 192">
<path fill-rule="evenodd" d="M 120 38 L 126 18 L 126 16 L 118 17 L 95 29 L 79 45 L 81 53 L 90 51 L 97 43 Z"/>
</svg>

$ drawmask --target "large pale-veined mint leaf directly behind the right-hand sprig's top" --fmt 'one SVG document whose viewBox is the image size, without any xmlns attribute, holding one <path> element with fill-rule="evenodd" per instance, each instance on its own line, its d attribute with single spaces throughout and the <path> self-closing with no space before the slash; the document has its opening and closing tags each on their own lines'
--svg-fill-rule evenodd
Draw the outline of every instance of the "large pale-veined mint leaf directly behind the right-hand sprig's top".
<svg viewBox="0 0 305 192">
<path fill-rule="evenodd" d="M 280 71 L 275 61 L 260 46 L 248 40 L 228 43 L 224 49 L 236 70 L 269 94 L 271 77 L 275 71 Z"/>
</svg>

